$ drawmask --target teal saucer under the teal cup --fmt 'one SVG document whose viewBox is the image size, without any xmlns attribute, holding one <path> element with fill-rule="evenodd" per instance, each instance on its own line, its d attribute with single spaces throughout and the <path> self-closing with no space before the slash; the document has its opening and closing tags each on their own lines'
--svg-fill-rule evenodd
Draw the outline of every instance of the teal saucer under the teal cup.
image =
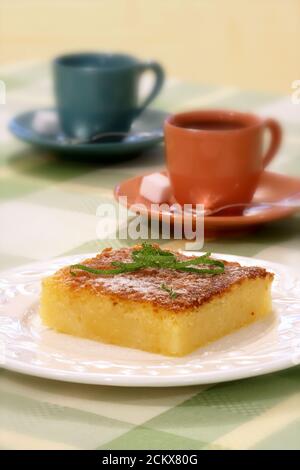
<svg viewBox="0 0 300 470">
<path fill-rule="evenodd" d="M 167 116 L 165 112 L 147 109 L 132 124 L 130 134 L 118 142 L 95 142 L 73 144 L 62 139 L 58 129 L 53 135 L 43 135 L 32 127 L 35 114 L 38 111 L 27 111 L 15 116 L 9 123 L 10 131 L 20 140 L 29 144 L 48 149 L 66 156 L 92 156 L 93 158 L 115 157 L 124 160 L 130 155 L 136 155 L 153 145 L 163 141 L 163 122 Z M 53 111 L 53 108 L 47 110 Z"/>
</svg>

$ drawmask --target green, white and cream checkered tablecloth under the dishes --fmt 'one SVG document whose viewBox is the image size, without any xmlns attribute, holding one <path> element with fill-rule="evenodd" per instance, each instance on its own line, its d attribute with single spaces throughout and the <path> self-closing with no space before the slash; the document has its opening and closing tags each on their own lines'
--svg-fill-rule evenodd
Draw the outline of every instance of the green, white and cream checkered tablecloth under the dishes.
<svg viewBox="0 0 300 470">
<path fill-rule="evenodd" d="M 59 160 L 16 141 L 14 114 L 52 103 L 48 66 L 3 68 L 0 105 L 1 269 L 98 251 L 96 208 L 120 180 L 163 166 L 163 148 L 113 166 Z M 290 98 L 169 80 L 155 102 L 169 112 L 233 107 L 281 119 L 285 139 L 274 171 L 300 176 L 300 105 Z M 122 242 L 124 243 L 124 242 Z M 180 243 L 169 243 L 180 247 Z M 205 249 L 300 265 L 299 217 Z M 0 371 L 0 447 L 4 449 L 300 449 L 300 368 L 186 388 L 78 385 Z"/>
</svg>

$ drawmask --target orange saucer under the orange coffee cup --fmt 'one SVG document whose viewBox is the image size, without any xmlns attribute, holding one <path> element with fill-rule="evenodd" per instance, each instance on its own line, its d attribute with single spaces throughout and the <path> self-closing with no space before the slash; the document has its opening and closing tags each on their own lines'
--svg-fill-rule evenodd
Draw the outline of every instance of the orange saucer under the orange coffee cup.
<svg viewBox="0 0 300 470">
<path fill-rule="evenodd" d="M 165 171 L 161 172 L 166 174 Z M 142 176 L 122 181 L 115 187 L 114 196 L 117 200 L 121 196 L 127 197 L 127 207 L 139 214 L 149 216 L 151 209 L 151 201 L 148 201 L 139 194 Z M 300 178 L 292 178 L 290 176 L 281 175 L 265 171 L 260 179 L 257 190 L 254 194 L 251 207 L 245 208 L 241 215 L 211 215 L 205 217 L 205 231 L 214 232 L 236 232 L 237 230 L 249 229 L 259 224 L 279 220 L 294 214 L 299 207 L 279 207 L 279 206 L 263 206 L 262 203 L 280 203 L 280 201 L 300 192 Z M 299 194 L 298 194 L 299 198 Z M 298 199 L 297 198 L 297 199 Z M 169 204 L 175 200 L 166 201 Z M 143 206 L 139 206 L 142 204 Z M 255 205 L 257 204 L 257 206 Z M 164 213 L 166 214 L 166 213 Z M 169 212 L 171 223 L 176 223 L 176 213 Z M 162 219 L 162 212 L 159 210 L 151 211 L 151 216 L 159 220 Z M 196 214 L 191 213 L 193 222 L 196 221 Z M 181 220 L 181 219 L 179 219 Z"/>
</svg>

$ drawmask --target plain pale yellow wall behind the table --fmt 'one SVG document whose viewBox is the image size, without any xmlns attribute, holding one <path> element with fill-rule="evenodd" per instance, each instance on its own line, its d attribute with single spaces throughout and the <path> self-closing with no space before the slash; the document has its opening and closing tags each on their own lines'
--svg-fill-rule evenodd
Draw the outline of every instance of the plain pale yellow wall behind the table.
<svg viewBox="0 0 300 470">
<path fill-rule="evenodd" d="M 300 0 L 1 0 L 1 63 L 65 50 L 129 51 L 170 75 L 290 93 Z"/>
</svg>

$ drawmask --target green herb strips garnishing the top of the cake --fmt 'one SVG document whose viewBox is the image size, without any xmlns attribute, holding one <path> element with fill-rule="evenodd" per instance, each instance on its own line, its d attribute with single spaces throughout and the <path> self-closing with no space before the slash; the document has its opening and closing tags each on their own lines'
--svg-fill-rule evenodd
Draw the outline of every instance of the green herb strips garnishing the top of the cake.
<svg viewBox="0 0 300 470">
<path fill-rule="evenodd" d="M 150 243 L 144 242 L 142 247 L 132 251 L 131 262 L 114 261 L 111 263 L 110 269 L 94 269 L 84 264 L 73 264 L 70 266 L 71 274 L 75 274 L 74 270 L 87 271 L 91 274 L 99 274 L 101 276 L 122 274 L 127 272 L 138 271 L 145 268 L 157 269 L 175 269 L 176 271 L 184 271 L 197 274 L 221 274 L 224 272 L 224 263 L 210 258 L 211 253 L 205 253 L 202 256 L 192 258 L 190 260 L 178 260 L 174 253 L 162 250 Z M 197 265 L 207 265 L 207 267 L 196 267 Z"/>
</svg>

